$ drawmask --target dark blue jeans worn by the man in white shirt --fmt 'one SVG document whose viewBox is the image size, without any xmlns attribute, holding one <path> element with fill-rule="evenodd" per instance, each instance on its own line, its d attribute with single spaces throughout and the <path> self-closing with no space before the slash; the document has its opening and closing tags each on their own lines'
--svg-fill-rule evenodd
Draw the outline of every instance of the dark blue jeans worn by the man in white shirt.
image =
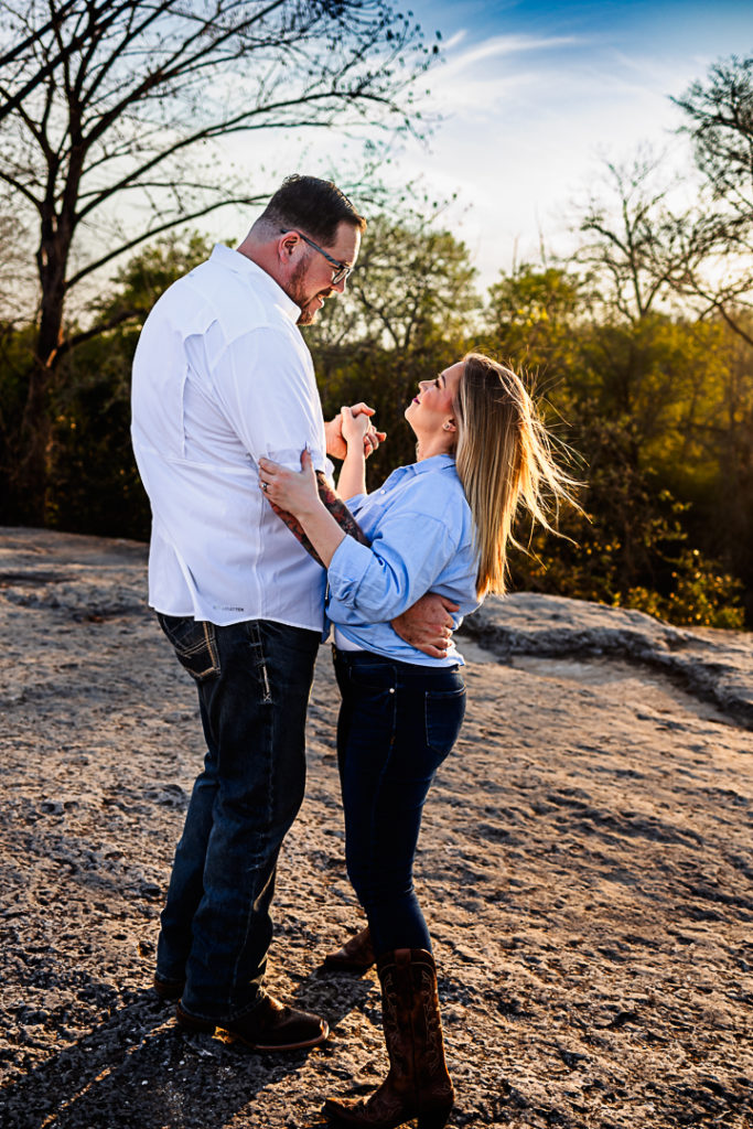
<svg viewBox="0 0 753 1129">
<path fill-rule="evenodd" d="M 158 615 L 196 682 L 207 741 L 161 914 L 157 975 L 207 1019 L 252 1010 L 272 938 L 277 859 L 304 797 L 317 631 Z"/>
</svg>

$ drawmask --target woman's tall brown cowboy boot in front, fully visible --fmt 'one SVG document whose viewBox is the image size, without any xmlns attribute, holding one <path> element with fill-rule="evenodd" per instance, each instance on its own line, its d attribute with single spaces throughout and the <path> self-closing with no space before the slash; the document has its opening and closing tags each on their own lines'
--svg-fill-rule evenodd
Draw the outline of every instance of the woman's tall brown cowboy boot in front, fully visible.
<svg viewBox="0 0 753 1129">
<path fill-rule="evenodd" d="M 397 1129 L 418 1117 L 419 1129 L 444 1129 L 455 1094 L 445 1062 L 431 953 L 397 948 L 377 961 L 382 1025 L 389 1073 L 366 1101 L 329 1099 L 335 1123 Z"/>
</svg>

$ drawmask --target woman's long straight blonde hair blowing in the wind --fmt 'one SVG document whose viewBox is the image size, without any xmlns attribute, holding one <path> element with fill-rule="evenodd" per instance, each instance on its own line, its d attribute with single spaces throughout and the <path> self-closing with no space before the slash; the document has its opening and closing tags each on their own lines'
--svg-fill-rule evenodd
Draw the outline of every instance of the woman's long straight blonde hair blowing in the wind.
<svg viewBox="0 0 753 1129">
<path fill-rule="evenodd" d="M 548 514 L 561 501 L 578 505 L 578 483 L 561 471 L 551 441 L 523 382 L 482 353 L 463 358 L 456 401 L 455 461 L 476 531 L 479 596 L 504 593 L 508 544 L 518 506 L 552 533 Z"/>
</svg>

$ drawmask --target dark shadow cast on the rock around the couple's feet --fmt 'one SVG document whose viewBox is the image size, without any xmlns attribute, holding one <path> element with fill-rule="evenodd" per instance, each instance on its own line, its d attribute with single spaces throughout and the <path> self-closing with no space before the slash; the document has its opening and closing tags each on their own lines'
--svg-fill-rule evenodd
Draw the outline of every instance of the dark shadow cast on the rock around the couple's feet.
<svg viewBox="0 0 753 1129">
<path fill-rule="evenodd" d="M 286 1000 L 326 1016 L 331 1029 L 361 1008 L 369 979 L 312 974 Z M 62 1033 L 61 1033 L 62 1034 Z M 321 1062 L 321 1095 L 298 1129 L 323 1129 L 319 1109 L 336 1075 L 336 1035 L 313 1051 L 262 1054 L 230 1036 L 187 1035 L 173 1006 L 151 990 L 126 994 L 122 1006 L 0 1099 L 3 1129 L 205 1129 L 226 1124 L 265 1087 Z M 318 1071 L 317 1071 L 318 1073 Z"/>
</svg>

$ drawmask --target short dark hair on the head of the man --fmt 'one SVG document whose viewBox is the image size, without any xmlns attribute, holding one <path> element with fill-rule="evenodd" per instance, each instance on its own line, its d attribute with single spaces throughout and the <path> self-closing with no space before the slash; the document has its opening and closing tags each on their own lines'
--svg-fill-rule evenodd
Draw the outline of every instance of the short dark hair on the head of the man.
<svg viewBox="0 0 753 1129">
<path fill-rule="evenodd" d="M 338 226 L 344 220 L 362 231 L 366 220 L 356 211 L 344 192 L 317 176 L 286 176 L 259 217 L 265 227 L 295 228 L 317 243 L 332 245 Z"/>
</svg>

